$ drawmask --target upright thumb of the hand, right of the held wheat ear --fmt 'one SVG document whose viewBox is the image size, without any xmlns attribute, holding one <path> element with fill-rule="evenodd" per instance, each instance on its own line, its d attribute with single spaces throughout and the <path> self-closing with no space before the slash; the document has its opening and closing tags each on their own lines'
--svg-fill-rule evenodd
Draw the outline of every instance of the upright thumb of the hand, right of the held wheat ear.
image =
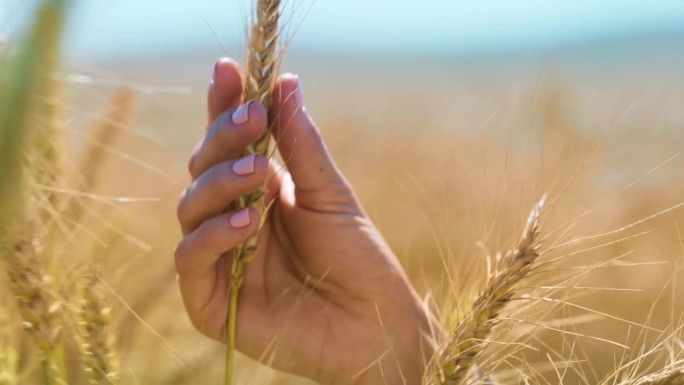
<svg viewBox="0 0 684 385">
<path fill-rule="evenodd" d="M 303 101 L 299 78 L 281 76 L 273 92 L 273 136 L 296 189 L 313 192 L 346 186 Z"/>
</svg>

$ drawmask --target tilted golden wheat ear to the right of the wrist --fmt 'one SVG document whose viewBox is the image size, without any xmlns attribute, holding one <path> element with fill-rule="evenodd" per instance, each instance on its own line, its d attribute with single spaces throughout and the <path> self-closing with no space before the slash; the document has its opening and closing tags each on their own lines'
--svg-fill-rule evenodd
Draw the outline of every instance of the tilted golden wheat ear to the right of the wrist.
<svg viewBox="0 0 684 385">
<path fill-rule="evenodd" d="M 501 322 L 498 317 L 513 298 L 516 285 L 529 274 L 539 257 L 539 215 L 544 201 L 542 198 L 530 213 L 517 247 L 504 256 L 502 270 L 489 279 L 473 302 L 471 312 L 450 333 L 427 374 L 428 382 L 459 385 L 466 381 L 475 358 L 487 346 L 492 329 Z"/>
</svg>

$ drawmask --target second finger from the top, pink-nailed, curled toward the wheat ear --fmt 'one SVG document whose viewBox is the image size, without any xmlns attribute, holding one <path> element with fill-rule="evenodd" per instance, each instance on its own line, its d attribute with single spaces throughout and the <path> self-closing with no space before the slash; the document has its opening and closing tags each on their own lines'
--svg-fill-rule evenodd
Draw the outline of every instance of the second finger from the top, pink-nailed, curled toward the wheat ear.
<svg viewBox="0 0 684 385">
<path fill-rule="evenodd" d="M 217 163 L 241 156 L 266 131 L 267 120 L 264 106 L 253 101 L 221 113 L 190 157 L 192 179 Z"/>
</svg>

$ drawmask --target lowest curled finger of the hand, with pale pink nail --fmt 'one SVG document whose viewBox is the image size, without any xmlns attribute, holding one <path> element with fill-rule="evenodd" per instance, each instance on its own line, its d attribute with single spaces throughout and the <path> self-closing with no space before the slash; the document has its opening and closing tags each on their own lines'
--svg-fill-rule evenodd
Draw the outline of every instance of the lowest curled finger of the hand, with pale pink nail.
<svg viewBox="0 0 684 385">
<path fill-rule="evenodd" d="M 222 254 L 232 250 L 259 228 L 253 208 L 218 215 L 202 223 L 178 244 L 176 270 L 183 280 L 206 277 Z"/>
</svg>

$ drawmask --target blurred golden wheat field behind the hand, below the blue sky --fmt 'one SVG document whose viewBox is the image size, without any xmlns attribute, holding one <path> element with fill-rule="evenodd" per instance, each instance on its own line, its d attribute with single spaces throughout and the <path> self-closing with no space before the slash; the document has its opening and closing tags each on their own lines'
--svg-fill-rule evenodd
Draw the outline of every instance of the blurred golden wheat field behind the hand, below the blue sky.
<svg viewBox="0 0 684 385">
<path fill-rule="evenodd" d="M 178 293 L 175 206 L 214 60 L 242 54 L 59 61 L 61 2 L 45 4 L 0 61 L 0 385 L 222 383 L 225 349 Z M 683 384 L 684 62 L 570 56 L 487 67 L 293 50 L 281 71 L 301 77 L 447 332 L 546 196 L 540 255 L 475 358 L 488 382 L 473 383 Z M 311 383 L 240 355 L 236 368 L 238 384 Z"/>
</svg>

